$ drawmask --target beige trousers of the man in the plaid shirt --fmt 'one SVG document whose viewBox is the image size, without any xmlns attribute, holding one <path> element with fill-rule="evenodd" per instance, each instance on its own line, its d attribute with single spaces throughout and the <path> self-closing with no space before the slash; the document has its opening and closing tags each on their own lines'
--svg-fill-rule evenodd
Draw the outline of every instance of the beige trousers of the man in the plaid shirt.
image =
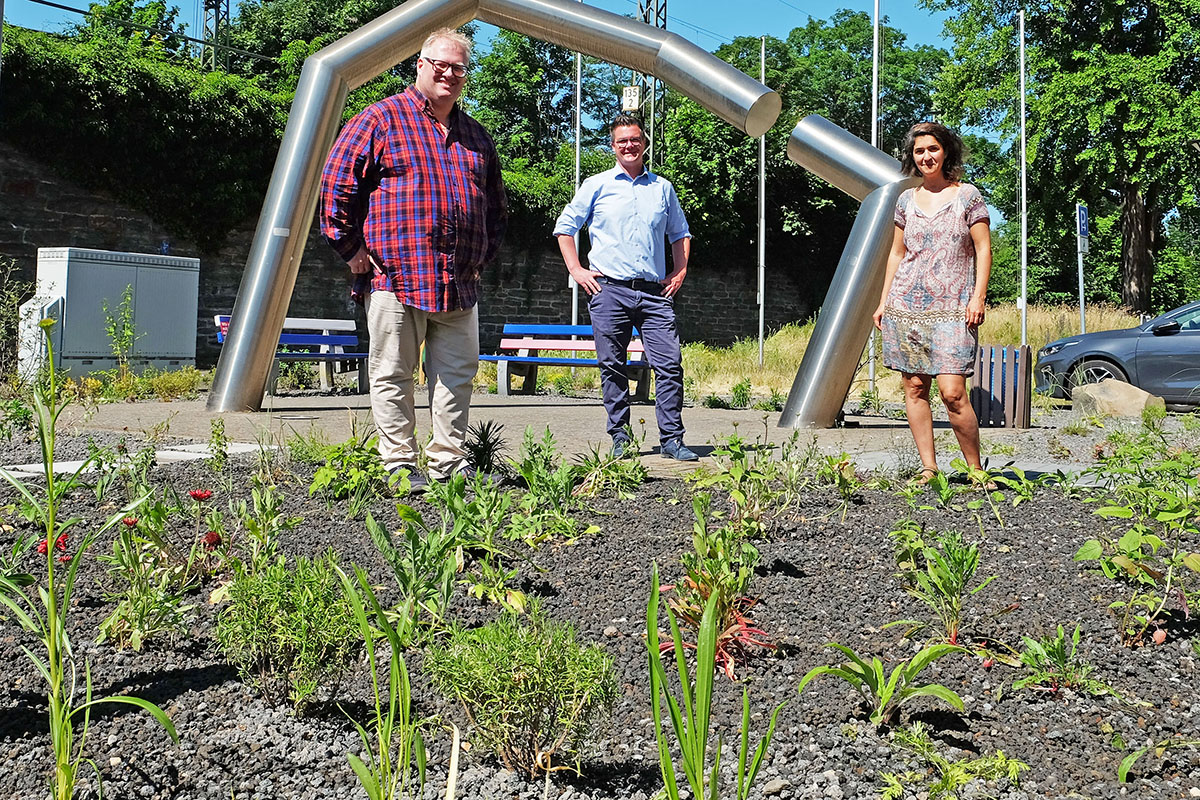
<svg viewBox="0 0 1200 800">
<path fill-rule="evenodd" d="M 413 375 L 425 342 L 433 441 L 426 455 L 430 477 L 442 480 L 467 465 L 463 444 L 470 422 L 470 392 L 479 368 L 479 308 L 421 311 L 390 291 L 366 299 L 371 333 L 371 413 L 379 431 L 379 457 L 388 471 L 416 471 L 416 410 Z"/>
</svg>

